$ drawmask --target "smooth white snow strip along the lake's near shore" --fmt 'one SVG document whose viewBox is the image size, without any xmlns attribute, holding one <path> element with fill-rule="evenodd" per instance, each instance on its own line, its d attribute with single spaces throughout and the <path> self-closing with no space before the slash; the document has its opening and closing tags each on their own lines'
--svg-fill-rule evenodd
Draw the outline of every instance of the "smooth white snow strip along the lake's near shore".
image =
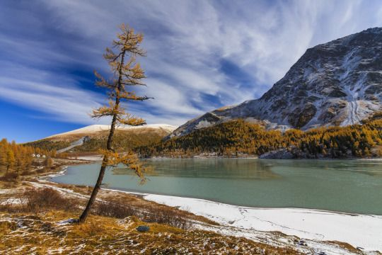
<svg viewBox="0 0 382 255">
<path fill-rule="evenodd" d="M 279 231 L 319 241 L 340 241 L 369 251 L 382 251 L 382 216 L 299 208 L 248 208 L 197 198 L 146 194 L 146 200 L 188 210 L 222 225 Z M 245 232 L 243 232 L 245 237 Z"/>
</svg>

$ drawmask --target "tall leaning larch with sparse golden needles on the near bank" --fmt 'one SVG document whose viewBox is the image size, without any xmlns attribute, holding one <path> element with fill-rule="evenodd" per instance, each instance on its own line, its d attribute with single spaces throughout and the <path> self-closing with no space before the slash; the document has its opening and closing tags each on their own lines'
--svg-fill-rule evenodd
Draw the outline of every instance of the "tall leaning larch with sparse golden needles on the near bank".
<svg viewBox="0 0 382 255">
<path fill-rule="evenodd" d="M 121 32 L 117 34 L 117 39 L 112 41 L 113 50 L 106 48 L 103 57 L 110 65 L 112 70 L 112 79 L 105 79 L 97 72 L 96 85 L 108 90 L 109 102 L 108 106 L 101 106 L 93 110 L 91 115 L 93 118 L 111 118 L 111 127 L 106 143 L 106 149 L 102 151 L 103 162 L 100 167 L 100 173 L 96 185 L 93 188 L 91 197 L 88 200 L 85 210 L 79 217 L 79 222 L 84 222 L 91 205 L 96 200 L 97 193 L 102 184 L 105 170 L 108 167 L 116 166 L 117 164 L 125 164 L 129 169 L 135 172 L 137 176 L 144 181 L 144 171 L 146 168 L 139 162 L 137 154 L 132 151 L 120 154 L 113 148 L 113 136 L 117 125 L 144 125 L 145 120 L 134 117 L 125 111 L 122 107 L 122 101 L 145 101 L 149 99 L 147 96 L 138 96 L 130 88 L 134 86 L 144 86 L 142 79 L 145 78 L 144 70 L 137 62 L 137 57 L 145 56 L 144 50 L 141 48 L 143 35 L 134 33 L 132 28 L 122 24 Z"/>
</svg>

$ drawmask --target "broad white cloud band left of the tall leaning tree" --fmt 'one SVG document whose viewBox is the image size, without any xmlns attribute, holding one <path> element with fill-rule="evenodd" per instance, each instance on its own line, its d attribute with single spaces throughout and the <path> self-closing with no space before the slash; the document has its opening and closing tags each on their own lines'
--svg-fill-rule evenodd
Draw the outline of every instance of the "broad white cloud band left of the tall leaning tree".
<svg viewBox="0 0 382 255">
<path fill-rule="evenodd" d="M 3 63 L 4 64 L 4 63 Z M 76 86 L 77 81 L 19 65 L 0 70 L 0 99 L 69 123 L 91 124 L 88 113 L 103 96 Z"/>
</svg>

